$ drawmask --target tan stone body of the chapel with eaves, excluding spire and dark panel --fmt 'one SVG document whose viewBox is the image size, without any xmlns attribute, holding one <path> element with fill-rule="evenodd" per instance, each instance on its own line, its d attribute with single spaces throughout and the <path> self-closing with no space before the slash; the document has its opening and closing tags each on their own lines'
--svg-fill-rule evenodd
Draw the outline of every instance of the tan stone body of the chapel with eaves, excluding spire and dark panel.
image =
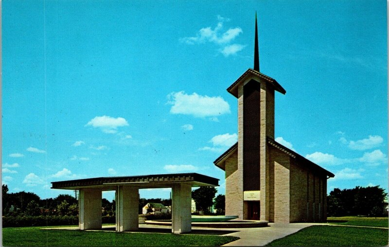
<svg viewBox="0 0 389 247">
<path fill-rule="evenodd" d="M 226 171 L 226 215 L 254 219 L 253 201 L 244 200 L 245 84 L 260 84 L 259 215 L 269 222 L 321 222 L 326 220 L 327 177 L 334 174 L 308 161 L 274 140 L 274 94 L 285 93 L 274 79 L 248 69 L 229 87 L 238 99 L 238 143 L 214 162 Z M 250 114 L 246 111 L 245 114 Z M 250 116 L 252 118 L 252 116 Z M 251 137 L 252 138 L 252 137 Z M 254 175 L 255 176 L 255 175 Z M 255 202 L 254 202 L 255 204 Z M 251 206 L 250 206 L 251 205 Z M 254 209 L 256 210 L 256 209 Z"/>
</svg>

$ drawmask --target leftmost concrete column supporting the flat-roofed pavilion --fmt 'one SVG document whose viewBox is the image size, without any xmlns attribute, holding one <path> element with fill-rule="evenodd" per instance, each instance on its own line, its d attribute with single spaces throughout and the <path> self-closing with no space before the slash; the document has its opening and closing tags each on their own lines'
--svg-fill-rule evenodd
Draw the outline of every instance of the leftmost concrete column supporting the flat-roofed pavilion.
<svg viewBox="0 0 389 247">
<path fill-rule="evenodd" d="M 80 189 L 78 198 L 80 230 L 101 229 L 101 190 Z"/>
</svg>

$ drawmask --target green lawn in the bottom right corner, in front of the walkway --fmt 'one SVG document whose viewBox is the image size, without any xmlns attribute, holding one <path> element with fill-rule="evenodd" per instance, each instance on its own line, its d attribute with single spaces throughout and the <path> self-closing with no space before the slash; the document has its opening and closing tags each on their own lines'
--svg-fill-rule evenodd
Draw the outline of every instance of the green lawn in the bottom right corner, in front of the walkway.
<svg viewBox="0 0 389 247">
<path fill-rule="evenodd" d="M 311 226 L 267 246 L 386 246 L 388 229 Z"/>
</svg>

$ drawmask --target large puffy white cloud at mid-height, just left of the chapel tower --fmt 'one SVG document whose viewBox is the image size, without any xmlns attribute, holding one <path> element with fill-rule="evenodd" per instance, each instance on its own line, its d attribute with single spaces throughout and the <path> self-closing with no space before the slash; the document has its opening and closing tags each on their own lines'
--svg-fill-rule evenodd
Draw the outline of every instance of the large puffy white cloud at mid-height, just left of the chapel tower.
<svg viewBox="0 0 389 247">
<path fill-rule="evenodd" d="M 170 93 L 168 99 L 167 103 L 173 105 L 170 109 L 171 114 L 207 117 L 230 113 L 230 105 L 220 96 L 209 97 L 196 93 L 188 95 L 180 91 Z"/>
</svg>

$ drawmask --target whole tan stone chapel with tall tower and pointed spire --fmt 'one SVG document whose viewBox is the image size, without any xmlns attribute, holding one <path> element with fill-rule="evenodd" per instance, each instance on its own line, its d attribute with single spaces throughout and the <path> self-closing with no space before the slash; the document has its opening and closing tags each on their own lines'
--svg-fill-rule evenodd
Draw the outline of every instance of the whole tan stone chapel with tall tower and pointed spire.
<svg viewBox="0 0 389 247">
<path fill-rule="evenodd" d="M 274 140 L 274 94 L 283 87 L 254 68 L 227 91 L 238 99 L 238 142 L 213 163 L 225 171 L 226 215 L 269 222 L 326 221 L 327 179 L 335 175 Z"/>
</svg>

